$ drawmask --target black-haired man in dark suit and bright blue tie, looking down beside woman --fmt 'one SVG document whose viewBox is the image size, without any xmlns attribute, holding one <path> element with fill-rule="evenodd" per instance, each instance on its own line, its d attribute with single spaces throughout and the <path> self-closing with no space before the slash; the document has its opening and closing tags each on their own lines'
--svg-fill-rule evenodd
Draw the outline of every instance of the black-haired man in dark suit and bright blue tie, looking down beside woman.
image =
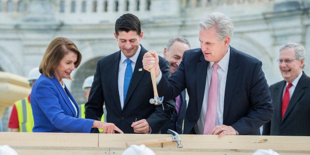
<svg viewBox="0 0 310 155">
<path fill-rule="evenodd" d="M 158 133 L 171 119 L 174 103 L 164 102 L 164 108 L 150 104 L 154 91 L 150 73 L 143 70 L 142 58 L 148 50 L 140 44 L 143 31 L 138 17 L 129 13 L 120 16 L 114 36 L 120 50 L 98 61 L 85 118 L 100 120 L 105 103 L 106 121 L 124 133 Z M 159 57 L 159 66 L 169 77 L 168 61 Z"/>
</svg>

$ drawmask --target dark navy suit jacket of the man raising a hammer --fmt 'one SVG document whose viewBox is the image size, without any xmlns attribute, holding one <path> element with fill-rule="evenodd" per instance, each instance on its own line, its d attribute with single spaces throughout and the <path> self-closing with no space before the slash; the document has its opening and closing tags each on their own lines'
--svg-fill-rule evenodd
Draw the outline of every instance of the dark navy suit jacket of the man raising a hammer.
<svg viewBox="0 0 310 155">
<path fill-rule="evenodd" d="M 240 135 L 260 135 L 260 126 L 271 119 L 271 95 L 262 62 L 230 48 L 223 124 L 232 126 Z M 194 134 L 199 119 L 208 63 L 200 48 L 185 51 L 178 70 L 169 78 L 161 78 L 157 89 L 165 99 L 176 97 L 187 88 L 189 104 L 184 120 L 184 134 Z"/>
</svg>

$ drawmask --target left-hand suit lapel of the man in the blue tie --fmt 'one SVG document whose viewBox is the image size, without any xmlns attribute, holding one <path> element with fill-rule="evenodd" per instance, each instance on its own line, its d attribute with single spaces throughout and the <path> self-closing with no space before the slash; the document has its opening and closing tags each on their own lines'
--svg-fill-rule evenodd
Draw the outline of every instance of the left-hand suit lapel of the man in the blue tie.
<svg viewBox="0 0 310 155">
<path fill-rule="evenodd" d="M 114 103 L 116 103 L 118 111 L 121 112 L 121 106 L 120 106 L 120 100 L 119 100 L 119 91 L 118 91 L 118 69 L 119 69 L 119 61 L 120 61 L 120 52 L 118 51 L 116 54 L 116 57 L 111 61 L 111 70 L 110 70 L 110 75 L 109 76 L 109 81 L 111 85 L 111 92 L 113 94 L 112 98 L 114 99 Z"/>
</svg>

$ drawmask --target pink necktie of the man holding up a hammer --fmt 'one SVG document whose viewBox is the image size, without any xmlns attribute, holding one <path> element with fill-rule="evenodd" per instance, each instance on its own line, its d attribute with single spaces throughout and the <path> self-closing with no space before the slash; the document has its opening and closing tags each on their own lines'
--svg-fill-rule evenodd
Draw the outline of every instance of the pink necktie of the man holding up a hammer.
<svg viewBox="0 0 310 155">
<path fill-rule="evenodd" d="M 211 76 L 211 82 L 209 86 L 209 95 L 208 95 L 208 105 L 207 113 L 205 116 L 203 134 L 209 134 L 211 129 L 215 126 L 216 118 L 216 105 L 217 105 L 217 85 L 218 85 L 218 74 L 216 69 L 219 67 L 217 63 L 213 64 L 213 72 Z"/>
</svg>

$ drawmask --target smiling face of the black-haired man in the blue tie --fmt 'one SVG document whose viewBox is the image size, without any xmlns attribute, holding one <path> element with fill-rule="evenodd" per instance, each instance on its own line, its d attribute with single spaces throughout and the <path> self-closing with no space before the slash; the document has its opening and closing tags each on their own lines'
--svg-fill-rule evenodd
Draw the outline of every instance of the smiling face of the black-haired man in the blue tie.
<svg viewBox="0 0 310 155">
<path fill-rule="evenodd" d="M 119 31 L 118 36 L 114 33 L 114 37 L 118 42 L 118 47 L 126 58 L 134 56 L 139 48 L 140 41 L 143 37 L 143 32 L 140 35 L 136 31 Z"/>
</svg>

